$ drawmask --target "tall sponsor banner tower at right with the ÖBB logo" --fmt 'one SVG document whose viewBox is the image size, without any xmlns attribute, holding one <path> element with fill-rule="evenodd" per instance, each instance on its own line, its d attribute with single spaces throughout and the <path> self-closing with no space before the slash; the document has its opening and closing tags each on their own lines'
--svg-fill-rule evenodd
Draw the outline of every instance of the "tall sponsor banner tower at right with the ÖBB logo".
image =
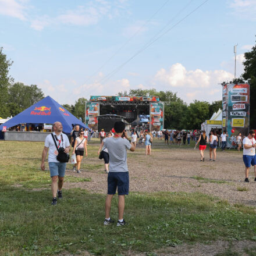
<svg viewBox="0 0 256 256">
<path fill-rule="evenodd" d="M 222 129 L 229 134 L 227 147 L 236 147 L 236 136 L 247 136 L 250 122 L 250 84 L 222 87 Z M 233 133 L 232 133 L 233 131 Z"/>
</svg>

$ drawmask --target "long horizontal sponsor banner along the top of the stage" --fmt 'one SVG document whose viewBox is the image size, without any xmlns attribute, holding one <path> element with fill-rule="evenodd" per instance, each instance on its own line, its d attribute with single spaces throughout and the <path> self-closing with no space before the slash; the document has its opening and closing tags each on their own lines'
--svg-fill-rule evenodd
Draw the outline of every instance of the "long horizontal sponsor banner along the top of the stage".
<svg viewBox="0 0 256 256">
<path fill-rule="evenodd" d="M 129 101 L 129 102 L 141 102 L 141 101 L 150 101 L 150 102 L 158 102 L 158 96 L 150 96 L 150 97 L 143 97 L 143 96 L 91 96 L 90 101 Z"/>
</svg>

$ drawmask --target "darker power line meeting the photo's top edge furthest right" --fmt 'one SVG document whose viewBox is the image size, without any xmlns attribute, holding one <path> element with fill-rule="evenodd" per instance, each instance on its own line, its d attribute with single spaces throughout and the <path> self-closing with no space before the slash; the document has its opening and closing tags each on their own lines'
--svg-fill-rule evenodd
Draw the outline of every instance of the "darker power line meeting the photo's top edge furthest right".
<svg viewBox="0 0 256 256">
<path fill-rule="evenodd" d="M 140 54 L 141 52 L 145 51 L 145 49 L 147 49 L 148 47 L 150 47 L 150 45 L 154 44 L 155 41 L 157 41 L 159 38 L 163 37 L 163 35 L 165 35 L 166 33 L 168 33 L 170 30 L 172 30 L 173 28 L 175 28 L 178 24 L 180 24 L 181 22 L 183 22 L 183 20 L 185 20 L 187 17 L 189 17 L 191 14 L 193 14 L 197 9 L 199 9 L 202 5 L 204 5 L 206 2 L 208 2 L 209 0 L 205 0 L 204 2 L 202 2 L 200 5 L 198 5 L 195 9 L 193 9 L 189 14 L 187 14 L 186 16 L 184 16 L 182 19 L 180 19 L 178 22 L 176 22 L 172 27 L 170 27 L 170 29 L 166 30 L 164 33 L 162 33 L 161 35 L 159 35 L 157 38 L 155 38 L 155 40 L 149 42 L 148 44 L 144 45 L 143 48 L 141 48 L 140 50 L 138 50 L 136 52 L 136 54 L 134 54 L 133 56 L 131 56 L 129 59 L 127 59 L 127 61 L 123 62 L 120 66 L 116 67 L 116 69 L 114 69 L 112 72 L 108 73 L 105 77 L 103 77 L 101 80 L 98 81 L 98 83 L 101 83 L 101 81 L 106 82 L 110 77 L 113 76 L 113 74 L 115 74 L 116 72 L 118 72 L 119 69 L 121 69 L 123 66 L 126 65 L 126 63 L 130 62 L 131 59 L 135 58 L 138 54 Z M 158 33 L 159 34 L 159 33 Z"/>
</svg>

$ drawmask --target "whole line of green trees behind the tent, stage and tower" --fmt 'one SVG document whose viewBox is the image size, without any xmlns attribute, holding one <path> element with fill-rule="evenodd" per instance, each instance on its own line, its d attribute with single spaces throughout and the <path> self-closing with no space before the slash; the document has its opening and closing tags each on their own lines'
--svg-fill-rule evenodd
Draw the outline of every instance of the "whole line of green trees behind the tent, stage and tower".
<svg viewBox="0 0 256 256">
<path fill-rule="evenodd" d="M 232 82 L 250 83 L 250 127 L 256 129 L 256 45 L 250 52 L 246 52 L 244 57 L 246 59 L 243 62 L 244 73 Z M 27 86 L 23 83 L 15 82 L 9 75 L 11 65 L 12 61 L 3 54 L 3 48 L 0 48 L 0 116 L 2 118 L 11 115 L 15 116 L 45 97 L 37 85 L 31 84 Z M 166 129 L 200 129 L 202 122 L 211 118 L 214 112 L 222 108 L 221 100 L 212 103 L 195 100 L 188 105 L 177 97 L 177 93 L 172 91 L 136 89 L 129 92 L 120 92 L 118 95 L 158 96 L 160 101 L 168 102 L 165 105 L 164 116 Z M 74 105 L 64 104 L 63 107 L 84 122 L 85 101 L 86 98 L 79 98 Z"/>
</svg>

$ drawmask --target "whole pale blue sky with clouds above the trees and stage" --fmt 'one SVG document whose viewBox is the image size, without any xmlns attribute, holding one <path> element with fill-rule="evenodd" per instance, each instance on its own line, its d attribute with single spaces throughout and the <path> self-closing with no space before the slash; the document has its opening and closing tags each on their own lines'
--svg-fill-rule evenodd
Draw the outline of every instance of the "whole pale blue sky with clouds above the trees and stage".
<svg viewBox="0 0 256 256">
<path fill-rule="evenodd" d="M 0 46 L 15 81 L 60 104 L 136 88 L 212 102 L 233 79 L 233 46 L 239 76 L 255 45 L 256 0 L 204 2 L 0 0 Z"/>
</svg>

